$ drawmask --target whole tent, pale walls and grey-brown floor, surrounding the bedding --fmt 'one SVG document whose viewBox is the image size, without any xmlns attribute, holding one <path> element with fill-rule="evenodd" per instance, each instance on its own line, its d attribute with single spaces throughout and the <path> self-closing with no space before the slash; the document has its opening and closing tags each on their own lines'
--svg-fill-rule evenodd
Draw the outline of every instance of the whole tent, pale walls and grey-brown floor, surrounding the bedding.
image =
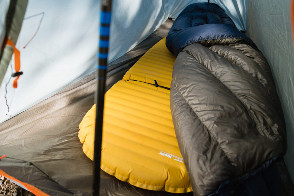
<svg viewBox="0 0 294 196">
<path fill-rule="evenodd" d="M 197 2 L 207 1 L 113 1 L 107 90 L 167 36 L 173 19 L 187 5 Z M 290 12 L 294 3 L 210 3 L 223 8 L 268 60 L 287 130 L 287 153 L 277 163 L 281 194 L 293 195 L 294 24 Z M 35 195 L 91 195 L 93 162 L 82 151 L 78 131 L 94 103 L 100 4 L 100 0 L 0 1 L 0 156 L 6 155 L 0 160 L 0 175 Z M 4 44 L 7 36 L 20 51 L 23 75 L 17 88 L 11 77 L 14 48 Z M 102 170 L 100 187 L 101 195 L 176 195 L 135 187 Z"/>
</svg>

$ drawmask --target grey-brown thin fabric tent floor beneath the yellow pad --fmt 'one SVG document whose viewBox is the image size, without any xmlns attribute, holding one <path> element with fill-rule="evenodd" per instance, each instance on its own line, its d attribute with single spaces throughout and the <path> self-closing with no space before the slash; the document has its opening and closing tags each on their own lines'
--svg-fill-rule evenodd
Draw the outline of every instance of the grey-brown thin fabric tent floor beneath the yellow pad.
<svg viewBox="0 0 294 196">
<path fill-rule="evenodd" d="M 108 66 L 107 89 L 172 25 L 167 20 L 153 34 Z M 93 162 L 82 151 L 79 123 L 94 104 L 96 73 L 0 124 L 0 169 L 29 182 L 49 195 L 91 195 Z M 294 186 L 283 161 L 277 163 L 282 179 L 281 195 L 294 195 Z M 101 170 L 100 195 L 193 195 L 150 191 L 117 180 Z"/>
</svg>

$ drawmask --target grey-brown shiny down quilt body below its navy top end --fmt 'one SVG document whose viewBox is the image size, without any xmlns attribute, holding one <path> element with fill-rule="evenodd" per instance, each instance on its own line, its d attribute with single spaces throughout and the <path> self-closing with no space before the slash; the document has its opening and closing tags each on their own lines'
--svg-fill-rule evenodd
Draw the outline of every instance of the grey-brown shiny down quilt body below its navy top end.
<svg viewBox="0 0 294 196">
<path fill-rule="evenodd" d="M 167 41 L 176 42 L 171 36 Z M 275 84 L 252 44 L 236 37 L 189 43 L 180 49 L 172 76 L 173 123 L 194 195 L 216 193 L 285 154 Z"/>
</svg>

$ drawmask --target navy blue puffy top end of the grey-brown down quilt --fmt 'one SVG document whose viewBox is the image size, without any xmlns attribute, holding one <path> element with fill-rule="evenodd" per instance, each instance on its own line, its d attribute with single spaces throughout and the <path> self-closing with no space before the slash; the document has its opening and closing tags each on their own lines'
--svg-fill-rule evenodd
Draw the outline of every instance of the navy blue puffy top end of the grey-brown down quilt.
<svg viewBox="0 0 294 196">
<path fill-rule="evenodd" d="M 237 29 L 220 6 L 195 3 L 187 6 L 173 23 L 166 37 L 166 47 L 178 56 L 183 48 L 192 43 L 225 38 L 238 38 L 238 43 L 242 41 L 257 49 L 253 41 Z"/>
</svg>

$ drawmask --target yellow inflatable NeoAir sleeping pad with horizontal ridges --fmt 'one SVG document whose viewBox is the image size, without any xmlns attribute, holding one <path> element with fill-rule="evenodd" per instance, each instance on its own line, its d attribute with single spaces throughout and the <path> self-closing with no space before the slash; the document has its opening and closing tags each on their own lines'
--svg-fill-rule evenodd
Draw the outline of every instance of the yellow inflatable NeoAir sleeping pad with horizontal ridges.
<svg viewBox="0 0 294 196">
<path fill-rule="evenodd" d="M 101 169 L 137 187 L 184 193 L 192 188 L 173 127 L 170 91 L 152 85 L 156 80 L 170 88 L 174 61 L 162 39 L 107 91 Z M 93 105 L 86 113 L 78 133 L 91 160 L 95 110 Z"/>
</svg>

